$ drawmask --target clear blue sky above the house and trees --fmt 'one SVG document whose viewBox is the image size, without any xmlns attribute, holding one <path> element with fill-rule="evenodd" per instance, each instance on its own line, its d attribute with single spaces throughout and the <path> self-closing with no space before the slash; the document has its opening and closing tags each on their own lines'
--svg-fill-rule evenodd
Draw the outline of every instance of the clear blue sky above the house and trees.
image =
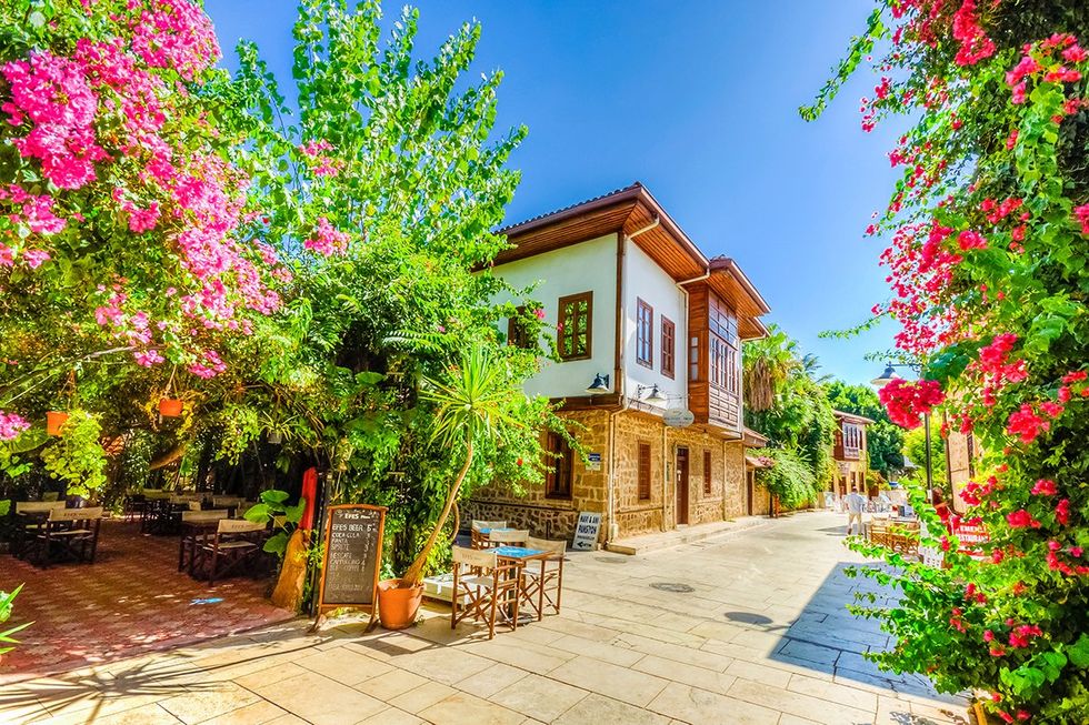
<svg viewBox="0 0 1089 725">
<path fill-rule="evenodd" d="M 895 130 L 859 128 L 859 77 L 822 119 L 803 122 L 871 0 L 427 0 L 418 51 L 430 53 L 478 18 L 474 71 L 500 68 L 500 125 L 524 123 L 512 164 L 517 221 L 645 183 L 708 255 L 740 263 L 772 308 L 767 318 L 813 352 L 825 372 L 866 382 L 862 355 L 890 344 L 892 325 L 861 338 L 822 330 L 861 322 L 887 296 L 879 242 L 862 238 L 893 180 Z M 400 12 L 387 3 L 387 19 Z M 207 0 L 233 66 L 239 38 L 259 43 L 290 79 L 294 2 Z"/>
</svg>

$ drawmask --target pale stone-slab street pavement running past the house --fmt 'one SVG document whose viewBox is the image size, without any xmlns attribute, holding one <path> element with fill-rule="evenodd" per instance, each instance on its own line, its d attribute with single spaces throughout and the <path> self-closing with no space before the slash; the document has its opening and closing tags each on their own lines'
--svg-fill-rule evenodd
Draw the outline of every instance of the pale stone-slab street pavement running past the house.
<svg viewBox="0 0 1089 725">
<path fill-rule="evenodd" d="M 879 673 L 846 610 L 842 515 L 801 513 L 629 557 L 571 554 L 563 614 L 488 642 L 441 607 L 403 633 L 297 620 L 0 692 L 48 723 L 962 723 L 962 702 Z M 443 616 L 446 614 L 446 616 Z"/>
</svg>

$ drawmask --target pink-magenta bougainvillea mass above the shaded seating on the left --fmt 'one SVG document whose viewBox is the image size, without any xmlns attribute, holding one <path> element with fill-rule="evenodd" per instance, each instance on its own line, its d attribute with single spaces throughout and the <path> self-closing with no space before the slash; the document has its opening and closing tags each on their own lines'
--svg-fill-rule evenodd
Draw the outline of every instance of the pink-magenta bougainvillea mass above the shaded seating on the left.
<svg viewBox="0 0 1089 725">
<path fill-rule="evenodd" d="M 2 3 L 0 461 L 46 410 L 117 417 L 219 374 L 279 305 L 219 57 L 190 0 Z"/>
</svg>

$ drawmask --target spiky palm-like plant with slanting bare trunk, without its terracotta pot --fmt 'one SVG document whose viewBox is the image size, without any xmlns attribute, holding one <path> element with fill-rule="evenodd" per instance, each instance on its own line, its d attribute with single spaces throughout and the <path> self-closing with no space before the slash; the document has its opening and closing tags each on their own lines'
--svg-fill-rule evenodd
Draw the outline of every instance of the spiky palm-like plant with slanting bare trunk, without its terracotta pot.
<svg viewBox="0 0 1089 725">
<path fill-rule="evenodd" d="M 458 501 L 478 445 L 489 439 L 503 437 L 510 429 L 524 426 L 516 414 L 524 393 L 502 361 L 483 346 L 462 352 L 459 364 L 449 367 L 441 380 L 424 377 L 420 400 L 434 407 L 432 444 L 451 452 L 463 450 L 464 460 L 447 490 L 442 512 L 431 535 L 402 578 L 403 586 L 418 586 L 423 581 L 423 567 Z"/>
</svg>

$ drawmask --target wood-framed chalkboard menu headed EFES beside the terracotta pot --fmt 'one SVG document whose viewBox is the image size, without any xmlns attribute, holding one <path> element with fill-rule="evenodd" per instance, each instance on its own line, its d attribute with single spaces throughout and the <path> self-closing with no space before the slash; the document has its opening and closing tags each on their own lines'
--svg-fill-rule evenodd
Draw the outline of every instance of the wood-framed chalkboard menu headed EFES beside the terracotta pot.
<svg viewBox="0 0 1089 725">
<path fill-rule="evenodd" d="M 353 607 L 370 610 L 373 616 L 386 507 L 347 504 L 327 511 L 319 613 Z"/>
</svg>

